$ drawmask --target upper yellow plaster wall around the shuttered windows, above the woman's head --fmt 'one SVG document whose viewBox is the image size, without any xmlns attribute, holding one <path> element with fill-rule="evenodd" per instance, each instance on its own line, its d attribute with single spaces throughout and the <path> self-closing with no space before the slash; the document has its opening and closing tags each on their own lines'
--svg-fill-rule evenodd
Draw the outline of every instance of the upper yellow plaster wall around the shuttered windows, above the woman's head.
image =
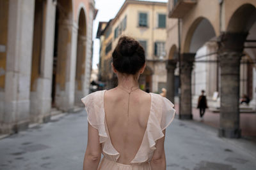
<svg viewBox="0 0 256 170">
<path fill-rule="evenodd" d="M 151 4 L 128 4 L 125 10 L 113 23 L 113 34 L 115 28 L 127 16 L 127 27 L 122 35 L 131 36 L 137 40 L 147 41 L 147 59 L 154 59 L 154 43 L 166 41 L 166 28 L 158 28 L 158 14 L 166 14 L 167 6 Z M 148 13 L 148 27 L 139 27 L 139 13 Z M 113 46 L 117 44 L 118 38 L 114 39 Z"/>
</svg>

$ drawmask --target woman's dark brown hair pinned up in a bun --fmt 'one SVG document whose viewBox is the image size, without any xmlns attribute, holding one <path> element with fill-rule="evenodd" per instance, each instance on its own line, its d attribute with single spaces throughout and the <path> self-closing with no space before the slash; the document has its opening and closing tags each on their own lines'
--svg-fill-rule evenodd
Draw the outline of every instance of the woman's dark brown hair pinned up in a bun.
<svg viewBox="0 0 256 170">
<path fill-rule="evenodd" d="M 120 73 L 136 74 L 145 64 L 143 47 L 134 38 L 122 36 L 112 53 L 113 66 Z"/>
</svg>

